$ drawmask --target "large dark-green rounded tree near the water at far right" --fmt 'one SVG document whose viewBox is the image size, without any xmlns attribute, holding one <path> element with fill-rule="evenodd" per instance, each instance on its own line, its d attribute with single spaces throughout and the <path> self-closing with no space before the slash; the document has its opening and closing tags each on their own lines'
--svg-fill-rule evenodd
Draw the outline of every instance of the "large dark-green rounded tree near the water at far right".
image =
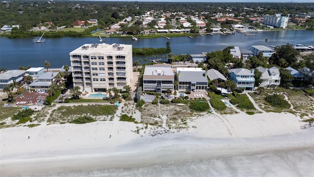
<svg viewBox="0 0 314 177">
<path fill-rule="evenodd" d="M 291 44 L 276 46 L 274 53 L 269 58 L 269 64 L 286 67 L 297 62 L 299 56 L 300 52 Z"/>
</svg>

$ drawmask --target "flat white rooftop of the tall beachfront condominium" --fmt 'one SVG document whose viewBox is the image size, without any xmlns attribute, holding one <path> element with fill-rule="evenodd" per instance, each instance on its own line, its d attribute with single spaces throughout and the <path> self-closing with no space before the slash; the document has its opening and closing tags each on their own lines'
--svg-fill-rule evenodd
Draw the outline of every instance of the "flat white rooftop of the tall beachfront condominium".
<svg viewBox="0 0 314 177">
<path fill-rule="evenodd" d="M 92 54 L 92 53 L 101 53 L 106 55 L 116 55 L 116 54 L 124 54 L 127 55 L 130 50 L 132 50 L 132 45 L 126 44 L 84 44 L 74 51 L 70 52 L 70 55 L 76 54 Z"/>
</svg>

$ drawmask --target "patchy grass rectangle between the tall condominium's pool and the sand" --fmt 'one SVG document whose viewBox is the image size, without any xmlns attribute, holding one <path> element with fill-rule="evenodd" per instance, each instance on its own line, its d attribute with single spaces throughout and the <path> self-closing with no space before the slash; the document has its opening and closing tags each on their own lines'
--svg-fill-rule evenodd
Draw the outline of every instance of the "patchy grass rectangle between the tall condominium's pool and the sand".
<svg viewBox="0 0 314 177">
<path fill-rule="evenodd" d="M 69 122 L 83 115 L 91 117 L 112 116 L 116 113 L 117 109 L 115 105 L 60 106 L 52 111 L 47 121 L 51 123 Z"/>
</svg>

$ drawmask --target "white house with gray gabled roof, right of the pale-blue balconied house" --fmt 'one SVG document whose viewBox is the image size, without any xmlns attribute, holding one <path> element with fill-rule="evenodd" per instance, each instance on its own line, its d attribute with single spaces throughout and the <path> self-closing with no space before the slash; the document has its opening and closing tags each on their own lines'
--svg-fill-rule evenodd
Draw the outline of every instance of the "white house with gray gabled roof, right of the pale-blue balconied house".
<svg viewBox="0 0 314 177">
<path fill-rule="evenodd" d="M 280 72 L 277 67 L 267 69 L 259 66 L 255 69 L 262 73 L 262 83 L 259 87 L 278 87 L 280 85 Z"/>
</svg>

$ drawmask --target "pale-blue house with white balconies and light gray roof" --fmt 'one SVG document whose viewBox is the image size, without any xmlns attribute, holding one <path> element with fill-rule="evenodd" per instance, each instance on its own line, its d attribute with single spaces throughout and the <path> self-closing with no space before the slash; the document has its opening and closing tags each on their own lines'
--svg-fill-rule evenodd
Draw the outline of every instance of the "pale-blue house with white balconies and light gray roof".
<svg viewBox="0 0 314 177">
<path fill-rule="evenodd" d="M 254 89 L 254 69 L 251 71 L 245 68 L 231 69 L 229 78 L 230 80 L 235 81 L 236 87 L 245 88 L 245 90 Z"/>
</svg>

